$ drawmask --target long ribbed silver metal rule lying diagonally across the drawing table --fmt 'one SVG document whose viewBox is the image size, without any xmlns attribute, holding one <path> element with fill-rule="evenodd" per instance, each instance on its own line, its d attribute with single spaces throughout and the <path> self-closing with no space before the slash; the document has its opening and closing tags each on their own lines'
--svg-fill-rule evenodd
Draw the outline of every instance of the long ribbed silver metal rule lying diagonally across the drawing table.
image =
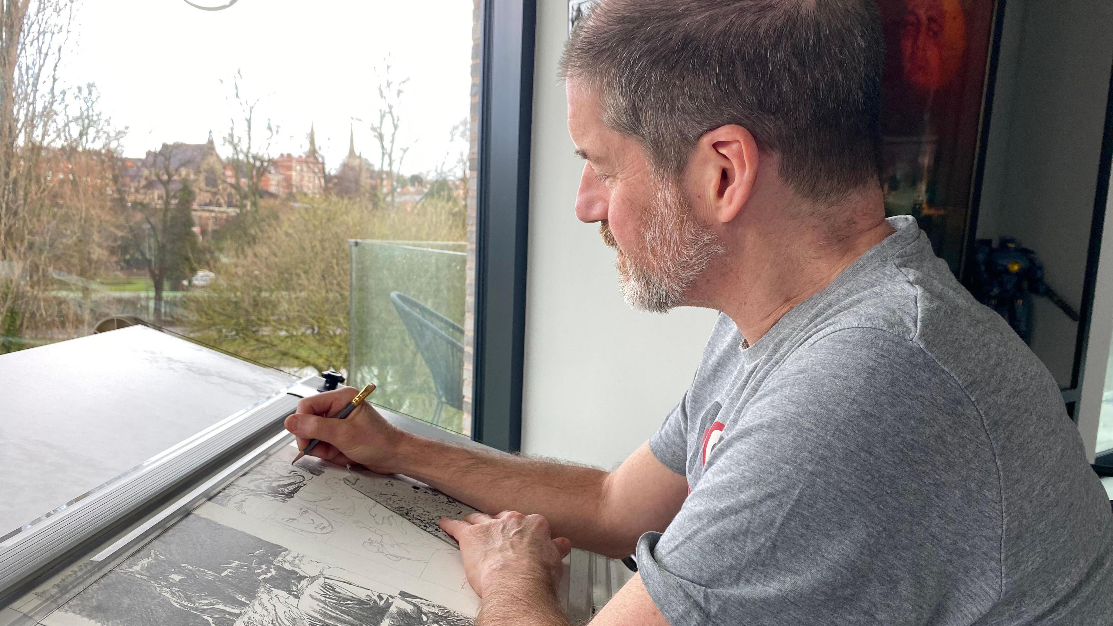
<svg viewBox="0 0 1113 626">
<path fill-rule="evenodd" d="M 210 469 L 228 452 L 276 428 L 294 412 L 298 400 L 298 395 L 283 393 L 234 414 L 4 539 L 0 542 L 0 606 L 106 531 L 118 529 L 124 520 Z"/>
</svg>

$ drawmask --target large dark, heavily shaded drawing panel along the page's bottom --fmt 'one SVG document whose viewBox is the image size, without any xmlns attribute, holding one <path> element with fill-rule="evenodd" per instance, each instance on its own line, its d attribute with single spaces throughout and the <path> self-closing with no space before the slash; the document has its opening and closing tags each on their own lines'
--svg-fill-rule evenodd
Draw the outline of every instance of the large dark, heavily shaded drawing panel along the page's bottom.
<svg viewBox="0 0 1113 626">
<path fill-rule="evenodd" d="M 393 591 L 393 593 L 392 593 Z M 466 615 L 205 519 L 185 517 L 47 626 L 471 626 Z"/>
</svg>

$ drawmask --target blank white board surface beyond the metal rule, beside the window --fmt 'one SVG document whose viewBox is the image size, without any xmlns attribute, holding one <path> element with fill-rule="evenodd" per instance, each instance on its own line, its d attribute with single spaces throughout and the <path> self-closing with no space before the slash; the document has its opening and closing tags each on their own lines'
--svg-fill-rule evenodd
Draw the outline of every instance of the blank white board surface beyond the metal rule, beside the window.
<svg viewBox="0 0 1113 626">
<path fill-rule="evenodd" d="M 294 382 L 145 326 L 0 355 L 0 536 Z"/>
</svg>

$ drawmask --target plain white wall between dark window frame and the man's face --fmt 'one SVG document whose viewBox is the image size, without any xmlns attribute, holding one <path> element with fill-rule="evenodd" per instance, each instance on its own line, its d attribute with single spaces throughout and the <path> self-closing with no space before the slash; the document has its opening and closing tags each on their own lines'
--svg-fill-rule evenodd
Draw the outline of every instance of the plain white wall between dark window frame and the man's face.
<svg viewBox="0 0 1113 626">
<path fill-rule="evenodd" d="M 575 218 L 582 162 L 558 61 L 568 0 L 539 0 L 522 451 L 611 468 L 657 430 L 699 364 L 715 313 L 630 310 L 614 253 Z"/>
</svg>

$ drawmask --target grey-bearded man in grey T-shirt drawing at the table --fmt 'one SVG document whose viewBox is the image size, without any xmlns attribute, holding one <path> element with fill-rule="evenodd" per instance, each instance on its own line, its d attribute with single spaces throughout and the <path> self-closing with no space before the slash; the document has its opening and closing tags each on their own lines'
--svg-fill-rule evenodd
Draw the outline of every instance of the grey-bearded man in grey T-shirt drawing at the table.
<svg viewBox="0 0 1113 626">
<path fill-rule="evenodd" d="M 318 417 L 354 390 L 287 428 L 491 513 L 442 522 L 484 626 L 564 624 L 570 546 L 636 555 L 597 626 L 1111 624 L 1113 519 L 1054 380 L 884 217 L 881 48 L 873 0 L 603 0 L 578 27 L 577 216 L 632 305 L 721 312 L 618 470 Z"/>
</svg>

